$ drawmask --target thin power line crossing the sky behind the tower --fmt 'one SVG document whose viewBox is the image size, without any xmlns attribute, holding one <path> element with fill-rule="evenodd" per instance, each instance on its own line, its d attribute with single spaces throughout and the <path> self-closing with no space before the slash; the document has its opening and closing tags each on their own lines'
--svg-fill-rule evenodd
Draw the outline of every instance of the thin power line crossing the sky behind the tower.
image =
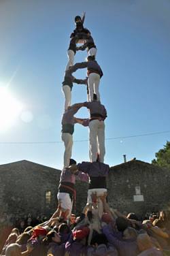
<svg viewBox="0 0 170 256">
<path fill-rule="evenodd" d="M 145 134 L 139 134 L 139 135 L 130 135 L 130 136 L 115 137 L 115 138 L 105 138 L 105 140 L 136 138 L 136 137 L 156 135 L 156 134 L 169 133 L 169 132 L 170 131 L 159 131 L 156 133 L 145 133 Z M 88 140 L 74 140 L 73 142 L 88 142 Z M 60 141 L 60 142 L 0 142 L 0 144 L 56 144 L 56 143 L 63 143 L 63 142 L 62 141 Z"/>
</svg>

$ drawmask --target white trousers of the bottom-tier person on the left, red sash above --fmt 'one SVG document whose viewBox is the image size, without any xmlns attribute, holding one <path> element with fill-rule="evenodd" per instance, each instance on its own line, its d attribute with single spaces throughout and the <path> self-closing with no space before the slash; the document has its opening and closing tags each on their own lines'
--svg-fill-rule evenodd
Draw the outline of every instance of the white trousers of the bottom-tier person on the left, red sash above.
<svg viewBox="0 0 170 256">
<path fill-rule="evenodd" d="M 67 219 L 69 219 L 73 207 L 73 201 L 71 202 L 69 194 L 58 192 L 57 198 L 58 200 L 61 199 L 61 210 L 69 210 L 69 214 L 67 215 Z"/>
</svg>

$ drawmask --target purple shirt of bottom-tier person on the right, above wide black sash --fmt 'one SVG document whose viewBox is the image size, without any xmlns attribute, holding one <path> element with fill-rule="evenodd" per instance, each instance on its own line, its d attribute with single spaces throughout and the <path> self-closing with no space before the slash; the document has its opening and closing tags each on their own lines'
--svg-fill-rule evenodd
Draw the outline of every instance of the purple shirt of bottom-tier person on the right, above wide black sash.
<svg viewBox="0 0 170 256">
<path fill-rule="evenodd" d="M 101 162 L 84 162 L 78 163 L 78 170 L 91 177 L 107 177 L 109 174 L 109 165 Z"/>
</svg>

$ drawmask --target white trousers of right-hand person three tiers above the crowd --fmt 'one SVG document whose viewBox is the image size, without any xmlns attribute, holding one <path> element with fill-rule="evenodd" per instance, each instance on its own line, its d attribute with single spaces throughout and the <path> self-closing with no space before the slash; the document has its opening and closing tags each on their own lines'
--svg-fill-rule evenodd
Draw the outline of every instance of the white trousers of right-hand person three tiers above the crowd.
<svg viewBox="0 0 170 256">
<path fill-rule="evenodd" d="M 93 93 L 97 95 L 97 100 L 100 99 L 99 94 L 99 82 L 100 76 L 97 73 L 90 73 L 88 76 L 88 90 L 89 90 L 89 99 L 93 100 Z"/>
</svg>

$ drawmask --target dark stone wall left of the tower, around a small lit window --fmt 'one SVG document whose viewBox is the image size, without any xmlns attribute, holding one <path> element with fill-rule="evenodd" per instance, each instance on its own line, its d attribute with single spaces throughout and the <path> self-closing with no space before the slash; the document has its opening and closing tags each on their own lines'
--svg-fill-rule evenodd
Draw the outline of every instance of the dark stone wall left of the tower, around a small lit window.
<svg viewBox="0 0 170 256">
<path fill-rule="evenodd" d="M 0 197 L 3 210 L 7 213 L 45 213 L 45 194 L 51 191 L 50 211 L 57 207 L 56 193 L 60 179 L 60 170 L 56 170 L 29 161 L 19 161 L 0 165 Z"/>
</svg>

